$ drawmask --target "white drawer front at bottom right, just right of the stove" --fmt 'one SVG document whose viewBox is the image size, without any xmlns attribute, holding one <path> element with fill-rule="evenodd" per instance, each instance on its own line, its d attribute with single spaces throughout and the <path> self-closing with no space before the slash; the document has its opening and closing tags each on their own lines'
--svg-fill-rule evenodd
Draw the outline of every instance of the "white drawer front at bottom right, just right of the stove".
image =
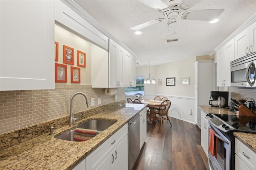
<svg viewBox="0 0 256 170">
<path fill-rule="evenodd" d="M 252 170 L 256 168 L 256 154 L 235 138 L 235 153 Z"/>
</svg>

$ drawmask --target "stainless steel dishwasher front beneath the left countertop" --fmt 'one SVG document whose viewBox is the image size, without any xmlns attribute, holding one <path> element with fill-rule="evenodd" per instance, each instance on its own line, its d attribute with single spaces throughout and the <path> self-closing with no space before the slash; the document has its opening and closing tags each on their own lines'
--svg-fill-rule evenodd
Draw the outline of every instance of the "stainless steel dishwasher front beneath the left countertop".
<svg viewBox="0 0 256 170">
<path fill-rule="evenodd" d="M 140 154 L 140 114 L 128 123 L 128 168 L 132 169 Z"/>
</svg>

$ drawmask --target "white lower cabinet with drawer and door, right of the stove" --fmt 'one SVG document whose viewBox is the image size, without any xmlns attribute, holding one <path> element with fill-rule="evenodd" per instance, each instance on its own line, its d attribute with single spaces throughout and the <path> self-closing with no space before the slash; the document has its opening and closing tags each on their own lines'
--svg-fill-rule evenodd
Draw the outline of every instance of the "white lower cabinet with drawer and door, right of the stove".
<svg viewBox="0 0 256 170">
<path fill-rule="evenodd" d="M 235 138 L 235 170 L 255 170 L 256 153 Z"/>
</svg>

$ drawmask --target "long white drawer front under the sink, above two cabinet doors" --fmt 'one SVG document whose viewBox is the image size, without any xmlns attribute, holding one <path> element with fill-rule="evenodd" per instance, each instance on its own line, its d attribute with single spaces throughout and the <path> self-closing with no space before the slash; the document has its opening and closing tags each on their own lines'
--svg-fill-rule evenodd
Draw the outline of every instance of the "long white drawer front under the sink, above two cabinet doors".
<svg viewBox="0 0 256 170">
<path fill-rule="evenodd" d="M 113 148 L 127 136 L 128 125 L 124 125 L 113 136 L 111 136 L 106 142 L 101 144 L 96 150 L 94 150 L 89 156 L 86 157 L 86 169 L 95 169 L 101 162 L 112 152 Z"/>
</svg>

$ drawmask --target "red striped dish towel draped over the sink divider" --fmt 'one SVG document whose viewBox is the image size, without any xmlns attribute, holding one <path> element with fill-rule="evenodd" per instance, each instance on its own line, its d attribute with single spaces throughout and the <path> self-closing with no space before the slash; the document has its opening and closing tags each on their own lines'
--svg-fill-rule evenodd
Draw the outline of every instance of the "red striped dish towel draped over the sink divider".
<svg viewBox="0 0 256 170">
<path fill-rule="evenodd" d="M 76 128 L 74 131 L 74 139 L 78 141 L 86 141 L 96 136 L 97 130 Z"/>
</svg>

